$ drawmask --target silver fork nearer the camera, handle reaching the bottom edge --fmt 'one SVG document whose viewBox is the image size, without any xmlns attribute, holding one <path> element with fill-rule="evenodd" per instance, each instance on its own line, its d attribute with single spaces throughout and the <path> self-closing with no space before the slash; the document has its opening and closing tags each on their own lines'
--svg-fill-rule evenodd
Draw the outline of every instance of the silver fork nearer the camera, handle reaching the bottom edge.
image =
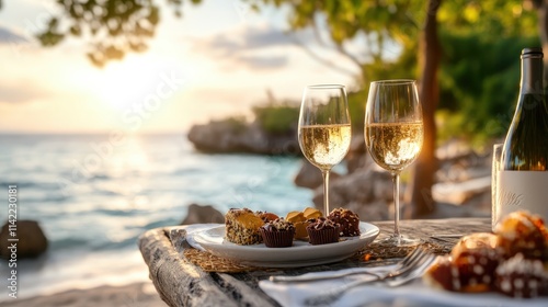
<svg viewBox="0 0 548 307">
<path fill-rule="evenodd" d="M 341 298 L 346 292 L 350 289 L 369 284 L 369 283 L 383 283 L 389 287 L 397 287 L 403 285 L 414 278 L 421 277 L 424 272 L 430 268 L 430 265 L 435 261 L 436 257 L 430 252 L 421 252 L 421 257 L 418 261 L 414 261 L 412 266 L 407 266 L 403 273 L 388 273 L 381 278 L 374 280 L 357 280 L 354 282 L 350 282 L 347 284 L 343 284 L 339 287 L 335 287 L 329 291 L 326 294 L 319 296 L 312 296 L 305 299 L 305 306 L 330 306 L 339 298 Z"/>
</svg>

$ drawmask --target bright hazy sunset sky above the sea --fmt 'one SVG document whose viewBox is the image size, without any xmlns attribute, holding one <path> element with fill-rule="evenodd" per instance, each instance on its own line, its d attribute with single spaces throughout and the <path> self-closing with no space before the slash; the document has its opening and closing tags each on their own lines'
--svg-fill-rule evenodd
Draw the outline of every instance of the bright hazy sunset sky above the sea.
<svg viewBox="0 0 548 307">
<path fill-rule="evenodd" d="M 357 73 L 356 67 L 320 47 L 312 31 L 288 34 L 287 8 L 254 12 L 238 0 L 184 1 L 178 19 L 167 1 L 156 1 L 161 21 L 148 49 L 102 69 L 87 58 L 84 39 L 45 48 L 33 38 L 58 10 L 56 1 L 3 1 L 0 133 L 181 133 L 210 120 L 250 116 L 267 91 L 300 101 L 307 84 L 354 84 L 339 69 Z"/>
</svg>

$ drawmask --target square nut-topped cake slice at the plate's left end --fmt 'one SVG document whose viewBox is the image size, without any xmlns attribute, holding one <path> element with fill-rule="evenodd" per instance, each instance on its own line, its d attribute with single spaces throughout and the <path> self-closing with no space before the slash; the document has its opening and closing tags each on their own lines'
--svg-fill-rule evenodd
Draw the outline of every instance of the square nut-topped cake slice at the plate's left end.
<svg viewBox="0 0 548 307">
<path fill-rule="evenodd" d="M 263 241 L 259 228 L 264 220 L 248 208 L 231 208 L 225 215 L 225 238 L 236 245 L 250 246 Z"/>
</svg>

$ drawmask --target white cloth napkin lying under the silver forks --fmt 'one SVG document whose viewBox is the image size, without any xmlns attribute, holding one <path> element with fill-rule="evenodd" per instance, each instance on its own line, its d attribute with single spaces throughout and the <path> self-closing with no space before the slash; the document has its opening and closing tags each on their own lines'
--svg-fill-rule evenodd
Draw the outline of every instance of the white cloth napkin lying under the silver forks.
<svg viewBox="0 0 548 307">
<path fill-rule="evenodd" d="M 344 271 L 347 270 L 355 269 L 346 269 Z M 372 268 L 372 272 L 375 272 L 374 270 L 379 269 Z M 330 272 L 320 272 L 308 274 L 329 273 Z M 364 275 L 359 276 L 359 278 L 363 277 Z M 326 293 L 347 282 L 349 277 L 307 283 L 273 283 L 270 281 L 261 281 L 259 286 L 282 306 L 298 307 L 304 306 L 305 298 Z M 381 285 L 355 287 L 346 292 L 344 296 L 330 306 L 546 307 L 548 306 L 548 298 L 517 299 L 498 293 L 452 293 L 429 287 L 419 278 L 410 284 L 396 288 L 388 288 Z"/>
</svg>

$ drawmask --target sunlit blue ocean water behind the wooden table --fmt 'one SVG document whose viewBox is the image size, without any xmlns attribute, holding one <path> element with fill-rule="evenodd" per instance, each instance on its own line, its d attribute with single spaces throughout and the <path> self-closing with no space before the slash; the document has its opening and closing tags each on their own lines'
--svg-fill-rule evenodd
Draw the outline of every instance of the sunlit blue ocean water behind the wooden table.
<svg viewBox="0 0 548 307">
<path fill-rule="evenodd" d="M 310 206 L 311 191 L 293 184 L 299 166 L 294 157 L 201 154 L 184 134 L 0 135 L 0 221 L 15 184 L 18 219 L 37 220 L 49 240 L 44 255 L 18 260 L 18 296 L 148 280 L 138 236 L 180 224 L 192 203 L 281 215 Z M 4 260 L 0 272 L 5 300 Z"/>
</svg>

